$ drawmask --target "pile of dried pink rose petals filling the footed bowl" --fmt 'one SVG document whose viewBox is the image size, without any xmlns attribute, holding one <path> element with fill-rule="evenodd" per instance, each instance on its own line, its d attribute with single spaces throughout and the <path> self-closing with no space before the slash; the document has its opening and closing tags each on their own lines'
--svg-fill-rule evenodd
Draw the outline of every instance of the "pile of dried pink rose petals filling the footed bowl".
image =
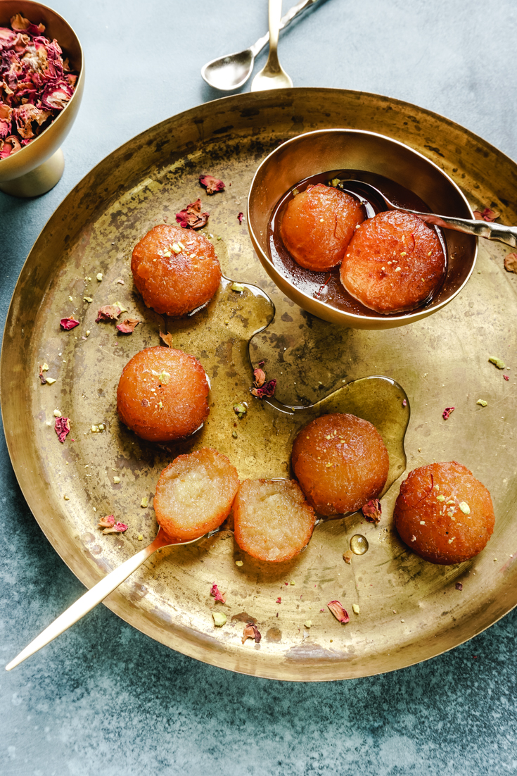
<svg viewBox="0 0 517 776">
<path fill-rule="evenodd" d="M 77 74 L 43 24 L 17 13 L 0 27 L 0 159 L 26 146 L 66 108 Z"/>
</svg>

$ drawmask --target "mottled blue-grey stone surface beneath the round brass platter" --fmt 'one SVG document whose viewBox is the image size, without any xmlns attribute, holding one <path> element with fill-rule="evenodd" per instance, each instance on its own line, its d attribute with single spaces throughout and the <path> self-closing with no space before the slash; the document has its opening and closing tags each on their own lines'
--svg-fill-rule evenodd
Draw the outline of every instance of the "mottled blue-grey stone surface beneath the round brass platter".
<svg viewBox="0 0 517 776">
<path fill-rule="evenodd" d="M 26 255 L 67 192 L 147 126 L 219 97 L 200 78 L 202 64 L 267 29 L 266 0 L 55 0 L 53 8 L 78 33 L 87 81 L 60 183 L 33 201 L 0 194 L 2 324 Z M 297 86 L 415 102 L 515 159 L 516 17 L 515 0 L 320 0 L 281 37 L 281 61 Z M 26 507 L 4 442 L 0 475 L 5 665 L 84 588 Z M 516 625 L 514 611 L 394 674 L 289 684 L 198 663 L 99 606 L 0 674 L 0 774 L 514 773 Z"/>
</svg>

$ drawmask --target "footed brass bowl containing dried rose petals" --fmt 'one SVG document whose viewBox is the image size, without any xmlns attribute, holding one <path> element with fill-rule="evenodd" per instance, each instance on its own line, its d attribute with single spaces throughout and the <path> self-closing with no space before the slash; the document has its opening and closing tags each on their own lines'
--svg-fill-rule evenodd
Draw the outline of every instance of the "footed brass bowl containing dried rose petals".
<svg viewBox="0 0 517 776">
<path fill-rule="evenodd" d="M 21 13 L 35 24 L 43 22 L 43 35 L 57 43 L 68 57 L 71 70 L 78 73 L 74 94 L 66 108 L 31 143 L 0 160 L 0 191 L 12 196 L 40 196 L 53 188 L 64 170 L 60 146 L 71 130 L 81 105 L 84 88 L 84 58 L 81 43 L 71 26 L 55 11 L 32 0 L 0 0 L 0 26 Z"/>
</svg>

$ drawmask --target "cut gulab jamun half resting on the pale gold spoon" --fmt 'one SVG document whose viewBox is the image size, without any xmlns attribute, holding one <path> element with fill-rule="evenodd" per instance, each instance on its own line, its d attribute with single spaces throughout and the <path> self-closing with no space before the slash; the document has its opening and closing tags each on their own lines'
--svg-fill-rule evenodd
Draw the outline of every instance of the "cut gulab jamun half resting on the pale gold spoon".
<svg viewBox="0 0 517 776">
<path fill-rule="evenodd" d="M 188 542 L 226 520 L 239 487 L 237 470 L 217 450 L 178 456 L 160 474 L 153 507 L 167 536 Z"/>
</svg>

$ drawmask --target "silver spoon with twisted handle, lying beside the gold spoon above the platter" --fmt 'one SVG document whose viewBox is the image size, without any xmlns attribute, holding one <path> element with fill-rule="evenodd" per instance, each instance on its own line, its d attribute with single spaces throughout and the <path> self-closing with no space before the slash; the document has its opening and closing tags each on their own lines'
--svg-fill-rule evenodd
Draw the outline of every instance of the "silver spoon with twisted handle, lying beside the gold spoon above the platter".
<svg viewBox="0 0 517 776">
<path fill-rule="evenodd" d="M 314 5 L 318 0 L 300 0 L 282 17 L 280 29 L 284 29 L 295 19 L 295 16 L 305 11 L 309 5 Z M 215 89 L 222 92 L 231 92 L 243 86 L 253 71 L 255 57 L 264 48 L 269 40 L 269 33 L 257 40 L 250 48 L 239 51 L 236 54 L 228 54 L 226 57 L 217 57 L 207 62 L 201 69 L 202 78 Z M 291 84 L 292 86 L 292 84 Z"/>
</svg>

